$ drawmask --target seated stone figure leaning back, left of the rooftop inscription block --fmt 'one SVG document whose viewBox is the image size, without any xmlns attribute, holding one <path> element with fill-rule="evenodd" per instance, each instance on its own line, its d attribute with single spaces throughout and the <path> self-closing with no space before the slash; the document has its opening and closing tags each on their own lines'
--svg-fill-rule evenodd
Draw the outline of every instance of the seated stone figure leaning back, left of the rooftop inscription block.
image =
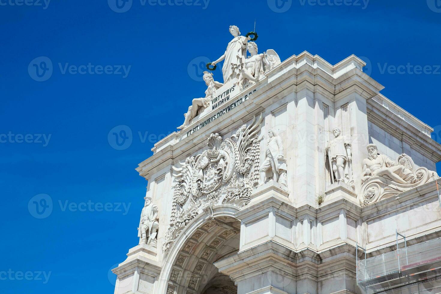
<svg viewBox="0 0 441 294">
<path fill-rule="evenodd" d="M 203 112 L 205 108 L 209 107 L 210 101 L 215 96 L 214 94 L 216 93 L 216 90 L 221 88 L 221 86 L 224 86 L 224 84 L 216 82 L 213 79 L 213 74 L 209 73 L 208 71 L 204 71 L 204 75 L 202 78 L 207 85 L 207 89 L 205 90 L 205 97 L 193 99 L 187 113 L 184 114 L 184 123 L 178 127 L 179 130 L 187 127 L 188 124 L 191 123 L 191 120 L 196 117 L 196 115 Z"/>
</svg>

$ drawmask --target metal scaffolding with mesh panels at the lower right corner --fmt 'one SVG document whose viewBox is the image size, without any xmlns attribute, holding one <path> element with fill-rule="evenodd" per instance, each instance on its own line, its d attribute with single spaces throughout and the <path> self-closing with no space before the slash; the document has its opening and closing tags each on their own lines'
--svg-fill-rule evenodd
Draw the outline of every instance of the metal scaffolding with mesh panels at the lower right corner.
<svg viewBox="0 0 441 294">
<path fill-rule="evenodd" d="M 399 237 L 404 247 L 399 248 Z M 364 293 L 441 293 L 441 238 L 407 246 L 396 231 L 396 250 L 366 258 L 357 244 L 357 285 Z M 431 290 L 428 290 L 431 289 Z"/>
</svg>

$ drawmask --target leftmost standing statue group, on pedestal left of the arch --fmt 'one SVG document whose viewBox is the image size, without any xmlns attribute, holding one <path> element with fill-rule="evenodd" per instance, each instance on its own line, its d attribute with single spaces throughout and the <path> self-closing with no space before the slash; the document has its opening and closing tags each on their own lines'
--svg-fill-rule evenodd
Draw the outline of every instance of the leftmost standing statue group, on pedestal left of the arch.
<svg viewBox="0 0 441 294">
<path fill-rule="evenodd" d="M 138 227 L 139 244 L 147 244 L 156 248 L 156 237 L 159 228 L 158 207 L 152 203 L 152 198 L 144 197 L 144 199 L 146 202 L 144 208 L 142 208 L 141 220 Z"/>
</svg>

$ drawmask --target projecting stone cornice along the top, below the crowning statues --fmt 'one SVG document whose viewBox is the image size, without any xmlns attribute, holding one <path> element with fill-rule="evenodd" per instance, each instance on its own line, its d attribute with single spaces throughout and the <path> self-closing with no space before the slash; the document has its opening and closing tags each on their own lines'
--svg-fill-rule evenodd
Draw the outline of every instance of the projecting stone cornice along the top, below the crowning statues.
<svg viewBox="0 0 441 294">
<path fill-rule="evenodd" d="M 304 59 L 306 59 L 306 61 Z M 314 60 L 325 66 L 319 67 L 318 63 L 314 63 Z M 355 56 L 350 56 L 345 63 L 360 61 L 361 60 Z M 293 66 L 294 62 L 295 66 Z M 344 63 L 339 64 L 337 68 L 342 67 L 342 64 Z M 253 114 L 258 114 L 259 111 L 263 110 L 261 105 L 265 103 L 265 101 L 272 100 L 272 103 L 276 102 L 283 98 L 279 93 L 287 91 L 287 89 L 291 89 L 290 91 L 293 92 L 299 92 L 302 89 L 308 89 L 313 93 L 317 91 L 331 101 L 339 100 L 354 91 L 365 99 L 369 99 L 383 89 L 380 84 L 363 73 L 357 66 L 352 66 L 350 70 L 344 73 L 341 72 L 338 79 L 333 78 L 335 74 L 329 74 L 327 67 L 329 67 L 329 63 L 326 64 L 320 57 L 311 56 L 307 52 L 303 52 L 299 56 L 288 58 L 288 60 L 285 60 L 277 66 L 277 68 L 266 73 L 267 77 L 263 78 L 259 83 L 250 86 L 235 96 L 241 97 L 245 93 L 257 89 L 257 91 L 253 93 L 253 96 L 243 102 L 240 107 L 232 109 L 230 112 L 217 118 L 216 122 L 198 130 L 197 136 L 190 135 L 189 137 L 180 139 L 187 130 L 190 130 L 201 121 L 207 119 L 209 115 L 197 119 L 179 133 L 174 132 L 168 135 L 155 144 L 155 147 L 152 149 L 155 152 L 153 156 L 140 163 L 136 170 L 141 176 L 148 179 L 149 174 L 160 169 L 157 165 L 161 164 L 161 167 L 164 167 L 162 163 L 168 159 L 172 159 L 173 162 L 175 162 L 177 156 L 190 156 L 191 153 L 202 149 L 205 146 L 205 141 L 209 134 L 219 130 L 228 132 L 238 121 L 245 123 Z M 234 98 L 232 99 L 234 100 Z M 216 111 L 213 111 L 213 113 L 215 112 Z M 190 142 L 192 144 L 188 144 Z M 169 145 L 164 146 L 164 144 Z M 160 146 L 163 146 L 162 149 L 157 151 Z M 178 150 L 179 153 L 175 155 L 175 151 Z"/>
</svg>

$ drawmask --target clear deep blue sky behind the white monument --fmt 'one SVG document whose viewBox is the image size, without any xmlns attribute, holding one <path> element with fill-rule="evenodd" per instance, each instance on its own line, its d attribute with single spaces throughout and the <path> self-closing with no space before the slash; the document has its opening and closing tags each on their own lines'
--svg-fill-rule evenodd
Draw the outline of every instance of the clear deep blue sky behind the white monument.
<svg viewBox="0 0 441 294">
<path fill-rule="evenodd" d="M 0 0 L 1 293 L 112 293 L 109 269 L 138 244 L 135 167 L 203 95 L 199 65 L 232 24 L 245 34 L 255 19 L 259 51 L 282 60 L 364 56 L 441 142 L 441 1 L 275 1 Z"/>
</svg>

